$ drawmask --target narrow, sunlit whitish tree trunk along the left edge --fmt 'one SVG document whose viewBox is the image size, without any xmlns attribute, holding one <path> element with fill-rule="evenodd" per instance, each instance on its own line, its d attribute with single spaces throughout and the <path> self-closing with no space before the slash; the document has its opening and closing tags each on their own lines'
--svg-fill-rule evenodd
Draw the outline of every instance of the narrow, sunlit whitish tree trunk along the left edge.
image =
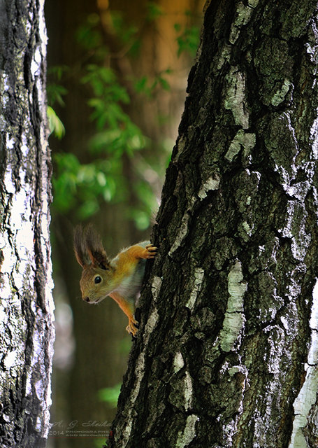
<svg viewBox="0 0 318 448">
<path fill-rule="evenodd" d="M 43 0 L 0 1 L 0 445 L 44 447 L 50 421 L 50 152 Z"/>
</svg>

